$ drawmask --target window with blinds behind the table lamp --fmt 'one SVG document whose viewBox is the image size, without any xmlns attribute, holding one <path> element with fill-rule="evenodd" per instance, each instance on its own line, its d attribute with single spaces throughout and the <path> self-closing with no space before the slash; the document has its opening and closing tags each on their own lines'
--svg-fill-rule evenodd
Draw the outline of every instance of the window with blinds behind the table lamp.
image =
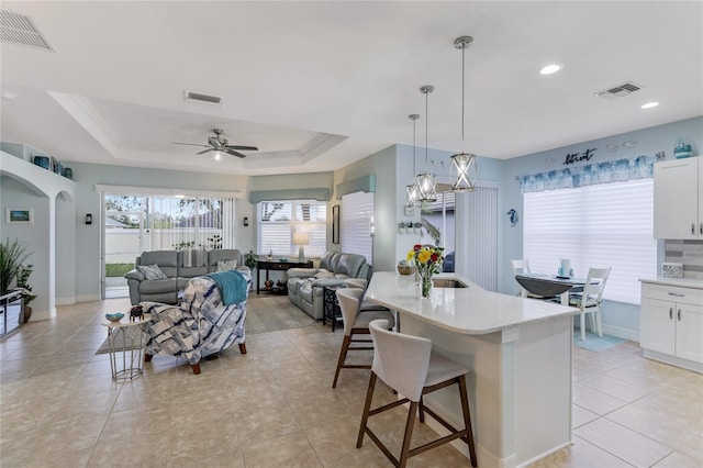
<svg viewBox="0 0 703 468">
<path fill-rule="evenodd" d="M 298 257 L 293 233 L 309 234 L 305 257 L 321 257 L 327 247 L 327 204 L 316 200 L 261 201 L 257 204 L 259 255 Z"/>
</svg>

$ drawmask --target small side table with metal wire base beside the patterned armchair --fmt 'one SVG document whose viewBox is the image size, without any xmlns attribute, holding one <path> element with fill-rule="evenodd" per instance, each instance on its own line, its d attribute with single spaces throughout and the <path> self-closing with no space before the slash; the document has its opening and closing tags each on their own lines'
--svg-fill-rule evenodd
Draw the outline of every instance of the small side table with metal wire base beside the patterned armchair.
<svg viewBox="0 0 703 468">
<path fill-rule="evenodd" d="M 108 327 L 108 345 L 110 346 L 110 370 L 112 380 L 132 380 L 144 374 L 144 346 L 146 345 L 146 324 L 150 314 L 142 320 L 129 321 L 129 314 L 120 322 L 103 321 Z M 124 322 L 123 322 L 124 321 Z"/>
</svg>

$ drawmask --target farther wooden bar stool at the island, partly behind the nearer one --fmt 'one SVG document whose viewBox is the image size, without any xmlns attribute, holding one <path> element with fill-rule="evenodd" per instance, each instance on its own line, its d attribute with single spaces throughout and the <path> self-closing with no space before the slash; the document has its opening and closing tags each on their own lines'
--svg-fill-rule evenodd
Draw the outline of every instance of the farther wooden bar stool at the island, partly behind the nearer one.
<svg viewBox="0 0 703 468">
<path fill-rule="evenodd" d="M 368 335 L 369 323 L 383 319 L 388 321 L 389 327 L 393 327 L 395 319 L 393 314 L 388 310 L 377 311 L 361 311 L 361 300 L 364 298 L 364 289 L 360 288 L 341 288 L 337 289 L 337 301 L 339 302 L 339 309 L 342 310 L 342 321 L 344 322 L 344 341 L 342 342 L 342 348 L 339 348 L 339 357 L 337 359 L 337 369 L 334 372 L 334 380 L 332 381 L 332 388 L 337 387 L 337 379 L 339 378 L 339 371 L 342 369 L 370 369 L 368 364 L 346 364 L 347 354 L 350 350 L 369 350 L 373 349 L 370 339 L 355 338 L 355 335 Z"/>
</svg>

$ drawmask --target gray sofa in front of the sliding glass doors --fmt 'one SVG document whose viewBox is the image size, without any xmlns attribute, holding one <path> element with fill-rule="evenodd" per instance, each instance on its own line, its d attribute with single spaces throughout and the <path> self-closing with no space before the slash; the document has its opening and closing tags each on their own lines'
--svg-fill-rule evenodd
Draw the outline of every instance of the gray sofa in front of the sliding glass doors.
<svg viewBox="0 0 703 468">
<path fill-rule="evenodd" d="M 130 287 L 130 301 L 137 305 L 142 301 L 178 303 L 178 292 L 186 289 L 190 278 L 203 276 L 217 270 L 217 261 L 237 260 L 237 269 L 248 270 L 244 266 L 242 254 L 236 248 L 219 248 L 199 253 L 200 266 L 185 266 L 191 264 L 191 258 L 177 250 L 147 250 L 136 257 L 136 266 L 158 265 L 166 278 L 146 279 L 144 272 L 134 268 L 124 277 Z"/>
</svg>

